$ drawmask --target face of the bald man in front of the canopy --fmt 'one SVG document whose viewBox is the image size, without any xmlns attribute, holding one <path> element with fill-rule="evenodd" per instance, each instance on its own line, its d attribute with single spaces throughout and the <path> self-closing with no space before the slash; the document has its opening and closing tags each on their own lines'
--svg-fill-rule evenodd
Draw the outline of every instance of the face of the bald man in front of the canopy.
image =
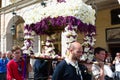
<svg viewBox="0 0 120 80">
<path fill-rule="evenodd" d="M 73 58 L 75 60 L 80 60 L 82 53 L 83 53 L 82 47 L 80 45 L 76 46 L 75 49 L 73 49 L 73 51 L 72 51 Z"/>
</svg>

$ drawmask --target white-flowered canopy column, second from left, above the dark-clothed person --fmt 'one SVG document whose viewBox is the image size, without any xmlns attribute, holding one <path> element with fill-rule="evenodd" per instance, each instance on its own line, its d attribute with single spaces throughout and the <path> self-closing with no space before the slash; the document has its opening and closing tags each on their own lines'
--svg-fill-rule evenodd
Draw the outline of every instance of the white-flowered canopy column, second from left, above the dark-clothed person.
<svg viewBox="0 0 120 80">
<path fill-rule="evenodd" d="M 56 34 L 52 34 L 46 37 L 45 41 L 42 41 L 42 52 L 40 57 L 42 58 L 60 58 L 59 55 L 55 53 L 54 43 L 56 42 Z"/>
</svg>

